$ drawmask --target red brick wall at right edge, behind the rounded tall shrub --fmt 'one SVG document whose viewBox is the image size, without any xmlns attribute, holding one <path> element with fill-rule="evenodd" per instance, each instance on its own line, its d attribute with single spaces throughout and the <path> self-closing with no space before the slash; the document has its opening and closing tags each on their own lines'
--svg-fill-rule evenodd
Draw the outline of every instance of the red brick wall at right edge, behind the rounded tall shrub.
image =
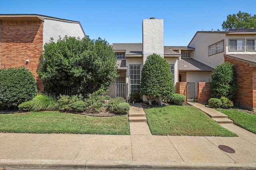
<svg viewBox="0 0 256 170">
<path fill-rule="evenodd" d="M 242 107 L 256 109 L 256 67 L 249 63 L 224 57 L 225 62 L 234 64 L 238 92 L 234 103 Z"/>
</svg>

